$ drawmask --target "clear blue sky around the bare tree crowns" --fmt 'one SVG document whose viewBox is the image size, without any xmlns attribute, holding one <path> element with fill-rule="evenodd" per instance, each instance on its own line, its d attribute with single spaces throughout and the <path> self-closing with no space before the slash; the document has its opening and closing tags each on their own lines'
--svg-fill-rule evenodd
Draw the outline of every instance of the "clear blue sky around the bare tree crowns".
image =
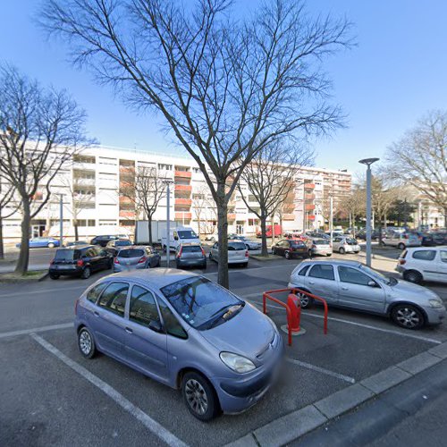
<svg viewBox="0 0 447 447">
<path fill-rule="evenodd" d="M 259 3 L 235 1 L 239 11 Z M 89 136 L 101 144 L 184 154 L 160 130 L 156 115 L 126 108 L 112 89 L 72 66 L 63 42 L 47 40 L 37 26 L 40 4 L 2 2 L 0 62 L 43 85 L 68 89 L 89 115 Z M 308 12 L 346 17 L 357 43 L 325 61 L 332 101 L 342 106 L 347 126 L 315 141 L 316 166 L 361 172 L 360 158 L 383 156 L 426 112 L 447 108 L 445 0 L 308 0 Z"/>
</svg>

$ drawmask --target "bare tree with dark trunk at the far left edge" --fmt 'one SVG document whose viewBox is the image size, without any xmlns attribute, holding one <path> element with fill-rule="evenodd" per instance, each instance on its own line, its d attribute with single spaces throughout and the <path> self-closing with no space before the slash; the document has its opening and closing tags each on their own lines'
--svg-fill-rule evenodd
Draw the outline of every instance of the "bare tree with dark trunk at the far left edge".
<svg viewBox="0 0 447 447">
<path fill-rule="evenodd" d="M 45 207 L 63 164 L 85 144 L 86 115 L 65 91 L 42 89 L 11 67 L 0 71 L 0 173 L 21 200 L 21 249 L 28 270 L 30 221 Z"/>
</svg>

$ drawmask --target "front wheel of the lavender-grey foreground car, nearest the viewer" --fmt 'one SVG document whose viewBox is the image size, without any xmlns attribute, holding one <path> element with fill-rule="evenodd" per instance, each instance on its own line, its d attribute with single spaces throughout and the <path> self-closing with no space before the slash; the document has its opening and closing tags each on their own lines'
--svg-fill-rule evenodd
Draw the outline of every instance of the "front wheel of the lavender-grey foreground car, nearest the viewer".
<svg viewBox="0 0 447 447">
<path fill-rule="evenodd" d="M 219 401 L 213 386 L 203 375 L 187 373 L 181 380 L 183 401 L 192 416 L 201 421 L 209 421 L 219 413 Z"/>
</svg>

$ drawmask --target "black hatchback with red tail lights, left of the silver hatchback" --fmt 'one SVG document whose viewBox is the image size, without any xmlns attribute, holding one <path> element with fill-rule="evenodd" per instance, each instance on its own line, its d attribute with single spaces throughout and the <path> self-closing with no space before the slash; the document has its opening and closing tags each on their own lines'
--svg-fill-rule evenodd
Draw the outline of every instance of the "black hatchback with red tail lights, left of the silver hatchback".
<svg viewBox="0 0 447 447">
<path fill-rule="evenodd" d="M 51 279 L 58 279 L 59 276 L 80 276 L 87 279 L 93 272 L 112 268 L 113 265 L 114 257 L 105 249 L 96 245 L 75 245 L 56 250 L 48 274 Z"/>
</svg>

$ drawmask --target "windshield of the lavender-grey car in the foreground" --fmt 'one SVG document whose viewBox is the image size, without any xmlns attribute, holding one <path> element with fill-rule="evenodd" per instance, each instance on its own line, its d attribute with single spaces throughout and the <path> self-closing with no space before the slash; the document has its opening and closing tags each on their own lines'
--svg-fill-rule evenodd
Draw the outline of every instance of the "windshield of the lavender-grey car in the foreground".
<svg viewBox="0 0 447 447">
<path fill-rule="evenodd" d="M 199 331 L 213 327 L 216 321 L 223 323 L 245 305 L 223 287 L 202 277 L 183 279 L 161 291 L 181 318 Z"/>
</svg>

